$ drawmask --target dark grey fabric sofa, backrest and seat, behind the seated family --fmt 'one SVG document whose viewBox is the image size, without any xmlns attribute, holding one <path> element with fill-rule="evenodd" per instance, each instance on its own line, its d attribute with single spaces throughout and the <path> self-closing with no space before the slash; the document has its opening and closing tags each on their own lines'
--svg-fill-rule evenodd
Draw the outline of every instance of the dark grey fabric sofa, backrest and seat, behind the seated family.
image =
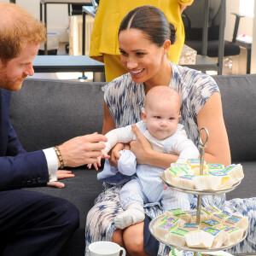
<svg viewBox="0 0 256 256">
<path fill-rule="evenodd" d="M 241 163 L 245 178 L 227 198 L 256 195 L 256 75 L 216 76 L 233 163 Z M 27 151 L 49 148 L 72 137 L 102 131 L 104 83 L 26 79 L 13 93 L 10 119 Z M 211 136 L 211 135 L 210 135 Z M 28 188 L 60 196 L 79 208 L 80 226 L 61 253 L 84 255 L 84 224 L 87 212 L 102 190 L 96 171 L 86 166 L 73 169 L 75 177 L 65 189 Z"/>
</svg>

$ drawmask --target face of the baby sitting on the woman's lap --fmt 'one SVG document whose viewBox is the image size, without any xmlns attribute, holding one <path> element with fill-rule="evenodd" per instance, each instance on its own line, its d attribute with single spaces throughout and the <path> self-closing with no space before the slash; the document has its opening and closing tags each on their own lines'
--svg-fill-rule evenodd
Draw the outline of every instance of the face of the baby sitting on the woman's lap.
<svg viewBox="0 0 256 256">
<path fill-rule="evenodd" d="M 179 106 L 175 102 L 150 102 L 143 113 L 149 133 L 160 140 L 175 133 L 179 119 Z"/>
</svg>

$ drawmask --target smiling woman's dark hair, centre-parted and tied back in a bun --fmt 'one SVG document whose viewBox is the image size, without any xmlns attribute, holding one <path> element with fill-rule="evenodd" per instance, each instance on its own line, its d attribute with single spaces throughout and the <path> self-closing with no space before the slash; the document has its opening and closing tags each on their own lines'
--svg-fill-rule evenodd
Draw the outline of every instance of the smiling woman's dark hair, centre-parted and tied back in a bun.
<svg viewBox="0 0 256 256">
<path fill-rule="evenodd" d="M 143 5 L 131 10 L 122 20 L 119 33 L 130 28 L 144 32 L 148 39 L 158 46 L 162 46 L 166 39 L 170 39 L 171 44 L 176 41 L 174 26 L 169 23 L 160 9 L 151 5 Z"/>
</svg>

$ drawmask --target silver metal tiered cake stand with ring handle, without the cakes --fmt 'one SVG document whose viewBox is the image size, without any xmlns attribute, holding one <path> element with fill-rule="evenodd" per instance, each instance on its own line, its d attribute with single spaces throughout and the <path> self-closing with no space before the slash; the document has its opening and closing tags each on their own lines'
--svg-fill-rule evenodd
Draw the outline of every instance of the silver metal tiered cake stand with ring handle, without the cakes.
<svg viewBox="0 0 256 256">
<path fill-rule="evenodd" d="M 201 132 L 202 131 L 205 131 L 206 132 L 206 142 L 205 143 L 202 143 L 202 139 L 201 139 Z M 207 131 L 206 128 L 201 128 L 201 131 L 200 131 L 200 148 L 201 148 L 201 160 L 200 160 L 200 174 L 203 174 L 203 166 L 204 166 L 204 158 L 205 158 L 205 149 L 207 148 L 207 142 L 208 142 L 208 139 L 209 139 L 209 133 Z M 188 194 L 193 194 L 193 195 L 197 195 L 197 209 L 196 209 L 196 223 L 197 224 L 200 224 L 200 218 L 201 218 L 201 196 L 202 195 L 219 195 L 219 194 L 224 194 L 224 193 L 228 193 L 230 191 L 232 191 L 233 189 L 236 189 L 236 187 L 241 183 L 241 182 L 238 182 L 236 184 L 234 184 L 231 188 L 229 189 L 221 189 L 221 190 L 199 190 L 199 189 L 183 189 L 183 188 L 179 188 L 179 187 L 176 187 L 174 185 L 172 185 L 171 183 L 168 183 L 166 181 L 166 177 L 163 173 L 162 175 L 162 179 L 163 181 L 166 183 L 166 185 L 168 187 L 171 187 L 172 189 L 175 189 L 177 191 L 180 191 L 180 192 L 183 192 L 183 193 L 188 193 Z M 204 248 L 191 248 L 191 247 L 178 247 L 176 245 L 172 245 L 172 243 L 169 243 L 163 239 L 160 239 L 159 237 L 155 236 L 154 235 L 154 226 L 155 224 L 161 219 L 163 218 L 163 215 L 160 215 L 158 216 L 157 218 L 154 218 L 150 224 L 149 224 L 149 232 L 152 234 L 152 236 L 155 237 L 155 239 L 157 239 L 158 241 L 166 244 L 167 246 L 169 247 L 175 247 L 177 249 L 182 249 L 182 250 L 185 250 L 185 251 L 191 251 L 191 252 L 194 252 L 194 256 L 198 256 L 198 253 L 209 253 L 209 252 L 217 252 L 217 251 L 221 251 L 221 250 L 226 250 L 226 249 L 229 249 L 231 247 L 234 247 L 236 246 L 236 244 L 240 243 L 241 241 L 243 241 L 246 237 L 247 237 L 247 230 L 244 231 L 244 234 L 241 238 L 240 241 L 237 241 L 235 244 L 232 244 L 230 246 L 223 246 L 223 247 L 218 247 L 218 248 L 207 248 L 207 249 L 204 249 Z"/>
</svg>

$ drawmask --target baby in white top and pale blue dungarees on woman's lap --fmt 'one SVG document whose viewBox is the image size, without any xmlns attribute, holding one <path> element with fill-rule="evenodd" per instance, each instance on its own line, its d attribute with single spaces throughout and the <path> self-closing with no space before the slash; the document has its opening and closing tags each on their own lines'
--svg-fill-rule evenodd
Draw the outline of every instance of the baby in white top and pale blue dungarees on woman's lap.
<svg viewBox="0 0 256 256">
<path fill-rule="evenodd" d="M 178 155 L 177 161 L 199 157 L 195 144 L 188 139 L 183 125 L 178 124 L 180 116 L 180 96 L 177 90 L 168 86 L 155 86 L 148 91 L 145 97 L 143 120 L 136 125 L 151 143 L 154 151 Z M 131 130 L 131 125 L 114 129 L 106 134 L 108 143 L 102 151 L 102 157 L 108 158 L 108 152 L 116 143 L 130 143 L 137 137 Z M 119 229 L 131 224 L 142 222 L 145 218 L 143 206 L 146 203 L 160 202 L 163 210 L 181 207 L 189 210 L 187 194 L 172 190 L 164 190 L 160 174 L 163 169 L 156 166 L 137 165 L 135 155 L 129 150 L 122 150 L 116 171 L 109 166 L 108 160 L 98 179 L 111 183 L 125 182 L 127 175 L 130 181 L 120 189 L 120 202 L 125 210 L 114 219 L 114 224 Z M 127 163 L 128 162 L 128 163 Z M 171 164 L 171 163 L 170 163 Z M 118 171 L 118 172 L 117 172 Z M 122 174 L 120 174 L 120 172 Z"/>
</svg>

